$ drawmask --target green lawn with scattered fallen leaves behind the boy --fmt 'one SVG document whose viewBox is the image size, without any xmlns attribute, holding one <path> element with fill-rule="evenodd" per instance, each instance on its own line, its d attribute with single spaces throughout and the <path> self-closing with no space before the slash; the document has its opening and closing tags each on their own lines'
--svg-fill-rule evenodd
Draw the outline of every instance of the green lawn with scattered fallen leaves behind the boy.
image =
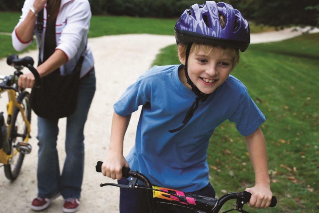
<svg viewBox="0 0 319 213">
<path fill-rule="evenodd" d="M 319 34 L 251 44 L 232 75 L 248 88 L 266 116 L 265 135 L 276 208 L 254 212 L 319 212 Z M 154 65 L 178 64 L 175 45 L 161 50 Z M 211 182 L 218 196 L 254 185 L 243 137 L 225 121 L 208 148 Z M 232 204 L 232 203 L 231 203 Z M 232 208 L 229 204 L 228 208 Z"/>
</svg>

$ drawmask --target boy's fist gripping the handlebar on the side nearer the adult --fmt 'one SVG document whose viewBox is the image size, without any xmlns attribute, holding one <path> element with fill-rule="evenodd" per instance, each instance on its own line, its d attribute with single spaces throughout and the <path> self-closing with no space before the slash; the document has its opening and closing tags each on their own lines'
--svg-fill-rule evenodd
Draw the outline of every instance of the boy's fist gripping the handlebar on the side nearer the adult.
<svg viewBox="0 0 319 213">
<path fill-rule="evenodd" d="M 102 164 L 102 174 L 114 180 L 120 180 L 123 177 L 123 167 L 130 167 L 123 154 L 108 152 Z"/>
</svg>

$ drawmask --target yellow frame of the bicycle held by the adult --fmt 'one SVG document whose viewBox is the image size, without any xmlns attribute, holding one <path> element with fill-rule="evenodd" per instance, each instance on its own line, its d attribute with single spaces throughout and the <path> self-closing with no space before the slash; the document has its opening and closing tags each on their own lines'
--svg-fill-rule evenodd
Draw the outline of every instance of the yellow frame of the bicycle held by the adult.
<svg viewBox="0 0 319 213">
<path fill-rule="evenodd" d="M 12 90 L 12 89 L 1 89 L 0 88 L 0 95 L 3 94 L 4 92 L 8 92 L 8 98 L 9 98 L 9 102 L 7 103 L 7 113 L 8 113 L 8 115 L 7 115 L 8 135 L 7 135 L 7 137 L 8 138 L 10 137 L 12 116 L 13 116 L 13 112 L 14 112 L 15 107 L 17 107 L 20 110 L 23 121 L 25 122 L 26 127 L 27 127 L 26 137 L 23 141 L 23 142 L 27 143 L 28 139 L 29 139 L 29 134 L 31 131 L 30 122 L 26 119 L 23 107 L 21 106 L 20 103 L 17 102 L 17 97 L 16 97 L 17 92 L 15 90 Z M 13 155 L 16 155 L 17 153 L 18 153 L 18 151 L 15 149 L 15 152 L 13 153 Z M 7 155 L 3 149 L 0 149 L 0 163 L 9 164 L 9 160 L 11 158 L 12 158 L 12 154 Z"/>
</svg>

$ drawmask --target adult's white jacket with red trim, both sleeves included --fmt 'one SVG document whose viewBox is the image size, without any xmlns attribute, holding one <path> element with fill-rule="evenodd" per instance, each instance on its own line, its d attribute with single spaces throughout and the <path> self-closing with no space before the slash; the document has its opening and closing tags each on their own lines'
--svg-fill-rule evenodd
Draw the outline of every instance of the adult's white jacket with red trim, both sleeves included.
<svg viewBox="0 0 319 213">
<path fill-rule="evenodd" d="M 34 0 L 26 0 L 22 8 L 22 15 L 20 16 L 17 26 L 12 32 L 12 45 L 17 51 L 21 51 L 33 42 L 22 42 L 17 34 L 16 28 L 23 22 L 26 15 L 30 11 Z M 85 44 L 87 42 L 89 27 L 91 19 L 91 7 L 88 0 L 61 0 L 60 10 L 56 17 L 56 49 L 64 52 L 67 63 L 60 67 L 62 75 L 70 74 L 80 58 Z M 43 10 L 43 32 L 41 38 L 41 59 L 43 59 L 44 36 L 46 29 L 47 10 L 46 5 Z M 39 48 L 39 35 L 37 32 L 37 23 L 34 29 L 34 34 L 37 38 L 37 45 Z M 94 65 L 93 55 L 89 44 L 86 46 L 84 52 L 85 59 L 81 69 L 81 77 L 89 72 Z"/>
</svg>

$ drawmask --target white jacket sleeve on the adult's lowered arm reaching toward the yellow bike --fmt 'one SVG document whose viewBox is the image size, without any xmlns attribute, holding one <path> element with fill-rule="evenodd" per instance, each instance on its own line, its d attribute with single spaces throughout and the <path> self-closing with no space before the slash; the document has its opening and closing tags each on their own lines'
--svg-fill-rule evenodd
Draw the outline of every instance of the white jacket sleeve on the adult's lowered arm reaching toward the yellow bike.
<svg viewBox="0 0 319 213">
<path fill-rule="evenodd" d="M 62 50 L 68 59 L 73 58 L 90 27 L 91 8 L 87 0 L 74 1 L 69 10 L 66 25 L 56 49 Z"/>
</svg>

